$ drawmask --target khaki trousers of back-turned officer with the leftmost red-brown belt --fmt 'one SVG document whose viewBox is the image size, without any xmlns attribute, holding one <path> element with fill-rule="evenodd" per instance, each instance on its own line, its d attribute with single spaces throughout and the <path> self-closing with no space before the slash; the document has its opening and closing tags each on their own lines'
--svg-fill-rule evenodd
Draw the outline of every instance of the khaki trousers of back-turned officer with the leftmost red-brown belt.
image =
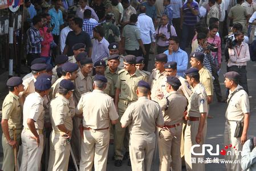
<svg viewBox="0 0 256 171">
<path fill-rule="evenodd" d="M 107 168 L 109 146 L 109 129 L 84 130 L 84 139 L 81 146 L 80 171 L 104 171 Z"/>
</svg>

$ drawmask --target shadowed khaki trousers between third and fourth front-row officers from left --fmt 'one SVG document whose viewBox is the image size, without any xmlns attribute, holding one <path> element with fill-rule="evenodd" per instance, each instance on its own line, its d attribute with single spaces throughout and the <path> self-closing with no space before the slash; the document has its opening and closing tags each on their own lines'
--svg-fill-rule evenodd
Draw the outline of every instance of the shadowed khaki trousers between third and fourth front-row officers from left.
<svg viewBox="0 0 256 171">
<path fill-rule="evenodd" d="M 72 138 L 71 138 L 71 148 L 73 150 L 76 163 L 79 164 L 81 158 L 81 142 L 82 137 L 80 133 L 79 126 L 82 123 L 82 118 L 73 117 L 73 130 L 72 130 Z"/>
</svg>

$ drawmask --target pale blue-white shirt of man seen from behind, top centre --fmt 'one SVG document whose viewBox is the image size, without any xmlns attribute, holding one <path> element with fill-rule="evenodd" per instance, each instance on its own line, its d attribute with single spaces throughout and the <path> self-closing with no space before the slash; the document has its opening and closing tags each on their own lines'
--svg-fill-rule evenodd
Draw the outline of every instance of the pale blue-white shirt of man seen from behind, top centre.
<svg viewBox="0 0 256 171">
<path fill-rule="evenodd" d="M 137 27 L 140 29 L 141 39 L 143 44 L 156 42 L 155 27 L 151 17 L 146 14 L 140 14 L 138 17 Z"/>
</svg>

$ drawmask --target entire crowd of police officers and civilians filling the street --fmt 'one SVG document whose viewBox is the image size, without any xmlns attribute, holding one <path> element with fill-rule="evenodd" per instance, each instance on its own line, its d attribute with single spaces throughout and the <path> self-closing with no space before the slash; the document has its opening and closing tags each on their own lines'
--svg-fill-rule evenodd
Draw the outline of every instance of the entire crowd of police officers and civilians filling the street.
<svg viewBox="0 0 256 171">
<path fill-rule="evenodd" d="M 151 170 L 158 144 L 159 170 L 205 170 L 191 148 L 205 143 L 214 91 L 228 105 L 225 144 L 238 153 L 255 10 L 252 0 L 25 0 L 31 72 L 7 82 L 2 170 L 106 170 L 109 144 L 116 167 L 128 159 L 132 170 Z"/>
</svg>

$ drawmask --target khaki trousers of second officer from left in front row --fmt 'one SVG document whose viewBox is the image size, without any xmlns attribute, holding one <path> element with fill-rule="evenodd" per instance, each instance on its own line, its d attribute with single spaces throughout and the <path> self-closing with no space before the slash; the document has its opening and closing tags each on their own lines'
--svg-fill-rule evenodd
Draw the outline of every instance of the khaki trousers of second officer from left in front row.
<svg viewBox="0 0 256 171">
<path fill-rule="evenodd" d="M 29 129 L 23 128 L 21 133 L 22 140 L 22 162 L 19 170 L 40 170 L 40 162 L 43 154 L 43 134 L 39 133 L 39 146 L 36 144 L 32 132 Z"/>
</svg>

